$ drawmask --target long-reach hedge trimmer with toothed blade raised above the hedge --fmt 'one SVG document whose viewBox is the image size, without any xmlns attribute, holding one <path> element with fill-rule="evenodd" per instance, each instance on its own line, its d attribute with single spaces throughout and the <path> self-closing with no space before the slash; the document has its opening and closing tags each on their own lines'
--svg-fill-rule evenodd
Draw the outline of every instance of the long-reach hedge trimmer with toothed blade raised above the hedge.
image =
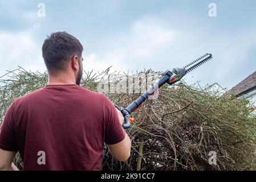
<svg viewBox="0 0 256 182">
<path fill-rule="evenodd" d="M 206 63 L 210 59 L 212 59 L 212 54 L 206 53 L 204 56 L 199 57 L 198 59 L 194 60 L 192 63 L 189 63 L 183 68 L 173 68 L 171 71 L 167 69 L 164 72 L 162 78 L 159 81 L 157 81 L 154 86 L 149 88 L 145 93 L 143 93 L 139 98 L 137 98 L 137 100 L 133 101 L 125 109 L 114 104 L 115 107 L 118 110 L 120 110 L 124 116 L 123 128 L 128 129 L 128 127 L 131 126 L 131 123 L 135 121 L 131 113 L 135 111 L 145 100 L 147 100 L 149 96 L 155 94 L 157 89 L 159 89 L 162 85 L 164 85 L 165 83 L 168 83 L 169 85 L 174 84 L 175 82 L 179 81 L 182 77 L 184 77 L 186 73 L 189 73 L 193 69 L 200 67 L 200 65 Z"/>
</svg>

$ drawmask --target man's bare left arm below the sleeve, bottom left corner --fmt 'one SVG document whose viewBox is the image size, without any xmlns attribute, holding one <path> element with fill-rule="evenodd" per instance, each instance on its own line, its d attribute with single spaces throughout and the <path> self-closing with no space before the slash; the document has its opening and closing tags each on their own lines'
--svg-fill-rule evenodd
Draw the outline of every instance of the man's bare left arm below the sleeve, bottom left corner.
<svg viewBox="0 0 256 182">
<path fill-rule="evenodd" d="M 0 171 L 19 171 L 13 163 L 16 153 L 17 152 L 6 151 L 0 148 Z"/>
</svg>

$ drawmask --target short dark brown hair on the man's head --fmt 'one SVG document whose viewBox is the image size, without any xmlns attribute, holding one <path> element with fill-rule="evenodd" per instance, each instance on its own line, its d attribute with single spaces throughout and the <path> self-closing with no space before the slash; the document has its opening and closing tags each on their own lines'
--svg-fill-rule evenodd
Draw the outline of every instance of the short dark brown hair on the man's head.
<svg viewBox="0 0 256 182">
<path fill-rule="evenodd" d="M 83 46 L 74 36 L 67 32 L 54 32 L 44 40 L 42 54 L 48 72 L 56 75 L 66 71 L 68 61 L 77 55 L 80 59 Z"/>
</svg>

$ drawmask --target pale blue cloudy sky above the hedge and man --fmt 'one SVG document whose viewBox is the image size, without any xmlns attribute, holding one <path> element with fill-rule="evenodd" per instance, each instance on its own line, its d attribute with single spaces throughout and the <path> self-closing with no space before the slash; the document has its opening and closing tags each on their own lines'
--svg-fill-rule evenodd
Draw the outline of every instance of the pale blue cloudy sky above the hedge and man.
<svg viewBox="0 0 256 182">
<path fill-rule="evenodd" d="M 185 81 L 230 89 L 256 71 L 255 22 L 253 0 L 0 0 L 0 76 L 46 71 L 44 39 L 66 31 L 83 44 L 84 71 L 165 71 L 212 53 Z"/>
</svg>

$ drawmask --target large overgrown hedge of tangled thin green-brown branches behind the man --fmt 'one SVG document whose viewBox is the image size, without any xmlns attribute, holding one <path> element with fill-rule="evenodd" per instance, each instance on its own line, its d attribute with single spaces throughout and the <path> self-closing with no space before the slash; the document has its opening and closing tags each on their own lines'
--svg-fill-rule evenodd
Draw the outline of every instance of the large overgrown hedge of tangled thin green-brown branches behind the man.
<svg viewBox="0 0 256 182">
<path fill-rule="evenodd" d="M 87 72 L 81 86 L 96 91 L 97 84 L 127 77 L 120 73 Z M 137 75 L 161 76 L 142 71 Z M 13 100 L 47 84 L 47 73 L 10 72 L 0 86 L 0 112 L 3 119 Z M 140 94 L 105 93 L 119 106 L 127 106 Z M 105 170 L 245 170 L 256 169 L 255 106 L 220 91 L 195 88 L 184 83 L 164 85 L 157 100 L 147 100 L 133 113 L 136 121 L 127 130 L 132 139 L 131 158 L 113 160 L 107 147 Z M 217 153 L 217 165 L 210 165 L 209 152 Z M 19 158 L 15 163 L 21 165 Z"/>
</svg>

